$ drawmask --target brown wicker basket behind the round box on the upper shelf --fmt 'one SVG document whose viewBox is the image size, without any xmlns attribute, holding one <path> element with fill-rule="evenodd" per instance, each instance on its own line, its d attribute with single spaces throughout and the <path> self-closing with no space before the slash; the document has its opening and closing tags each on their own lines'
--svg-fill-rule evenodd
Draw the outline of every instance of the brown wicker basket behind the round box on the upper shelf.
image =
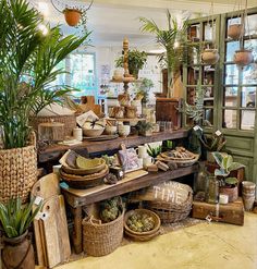
<svg viewBox="0 0 257 269">
<path fill-rule="evenodd" d="M 29 118 L 29 125 L 38 132 L 38 125 L 45 122 L 61 122 L 64 123 L 64 136 L 72 136 L 73 129 L 76 127 L 76 115 L 69 114 L 69 115 L 50 115 L 50 117 L 30 117 Z"/>
</svg>

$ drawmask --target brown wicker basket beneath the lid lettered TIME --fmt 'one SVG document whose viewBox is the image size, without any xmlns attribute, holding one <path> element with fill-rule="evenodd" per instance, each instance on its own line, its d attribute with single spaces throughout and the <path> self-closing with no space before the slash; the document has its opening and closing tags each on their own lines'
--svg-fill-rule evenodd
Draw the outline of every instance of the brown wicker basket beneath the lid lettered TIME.
<svg viewBox="0 0 257 269">
<path fill-rule="evenodd" d="M 188 217 L 193 203 L 193 193 L 188 193 L 187 199 L 183 204 L 171 204 L 164 200 L 149 200 L 145 203 L 146 208 L 156 212 L 162 223 L 173 223 Z"/>
</svg>

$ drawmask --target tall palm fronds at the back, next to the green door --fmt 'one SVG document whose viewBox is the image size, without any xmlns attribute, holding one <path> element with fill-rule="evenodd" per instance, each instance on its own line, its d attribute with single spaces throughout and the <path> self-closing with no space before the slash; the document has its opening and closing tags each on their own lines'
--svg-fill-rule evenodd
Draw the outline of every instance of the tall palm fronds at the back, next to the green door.
<svg viewBox="0 0 257 269">
<path fill-rule="evenodd" d="M 154 20 L 140 17 L 139 21 L 143 23 L 142 30 L 155 34 L 157 44 L 160 44 L 166 49 L 166 53 L 161 54 L 160 61 L 168 69 L 168 82 L 171 90 L 172 84 L 180 77 L 181 65 L 187 61 L 189 54 L 191 46 L 187 40 L 187 20 L 180 27 L 178 21 L 171 17 L 168 10 L 168 29 L 161 29 Z M 171 93 L 168 94 L 171 95 Z"/>
</svg>

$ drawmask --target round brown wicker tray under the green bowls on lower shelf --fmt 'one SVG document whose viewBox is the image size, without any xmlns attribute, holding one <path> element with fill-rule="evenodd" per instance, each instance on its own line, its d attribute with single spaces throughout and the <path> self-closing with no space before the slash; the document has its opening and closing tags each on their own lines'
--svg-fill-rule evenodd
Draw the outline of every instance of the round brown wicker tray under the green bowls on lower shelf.
<svg viewBox="0 0 257 269">
<path fill-rule="evenodd" d="M 109 173 L 108 166 L 105 166 L 105 169 L 99 173 L 94 173 L 89 175 L 75 175 L 65 173 L 60 169 L 61 179 L 68 183 L 70 187 L 73 188 L 89 188 L 103 183 L 103 179 Z"/>
</svg>

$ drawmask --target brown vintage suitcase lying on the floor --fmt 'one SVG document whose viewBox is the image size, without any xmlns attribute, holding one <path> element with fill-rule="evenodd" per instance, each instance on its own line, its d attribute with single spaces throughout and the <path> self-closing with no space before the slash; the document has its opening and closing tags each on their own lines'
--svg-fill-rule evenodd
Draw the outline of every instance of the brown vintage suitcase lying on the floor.
<svg viewBox="0 0 257 269">
<path fill-rule="evenodd" d="M 236 225 L 244 224 L 244 205 L 242 198 L 228 205 L 193 201 L 193 218 L 209 219 Z"/>
</svg>

